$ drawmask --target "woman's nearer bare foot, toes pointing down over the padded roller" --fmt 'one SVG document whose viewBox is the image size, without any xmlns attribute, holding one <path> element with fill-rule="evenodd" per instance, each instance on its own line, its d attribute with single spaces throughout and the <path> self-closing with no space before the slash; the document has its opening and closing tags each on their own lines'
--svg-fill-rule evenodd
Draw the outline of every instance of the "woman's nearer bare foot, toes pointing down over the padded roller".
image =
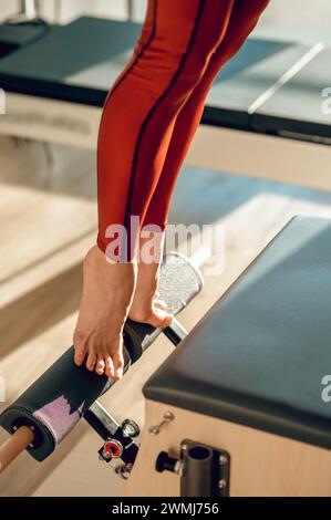
<svg viewBox="0 0 331 520">
<path fill-rule="evenodd" d="M 136 264 L 110 263 L 95 246 L 84 260 L 84 288 L 73 336 L 76 365 L 113 379 L 123 375 L 123 326 L 132 303 Z"/>
</svg>

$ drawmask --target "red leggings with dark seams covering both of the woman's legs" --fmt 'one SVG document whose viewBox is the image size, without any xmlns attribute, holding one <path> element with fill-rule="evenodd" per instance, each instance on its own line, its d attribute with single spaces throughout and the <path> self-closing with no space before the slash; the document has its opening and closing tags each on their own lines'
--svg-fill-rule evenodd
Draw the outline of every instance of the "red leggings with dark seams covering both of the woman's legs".
<svg viewBox="0 0 331 520">
<path fill-rule="evenodd" d="M 97 245 L 131 217 L 165 228 L 170 198 L 221 66 L 269 0 L 148 0 L 132 58 L 110 91 L 97 145 Z M 128 245 L 128 256 L 136 245 Z"/>
</svg>

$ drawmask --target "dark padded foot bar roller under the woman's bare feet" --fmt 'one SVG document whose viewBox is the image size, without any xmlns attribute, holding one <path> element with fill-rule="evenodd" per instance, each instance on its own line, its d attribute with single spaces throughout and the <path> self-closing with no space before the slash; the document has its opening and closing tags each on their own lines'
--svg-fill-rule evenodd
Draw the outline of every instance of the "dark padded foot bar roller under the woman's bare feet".
<svg viewBox="0 0 331 520">
<path fill-rule="evenodd" d="M 172 313 L 178 314 L 201 285 L 200 273 L 186 257 L 165 256 L 159 289 Z M 125 325 L 125 371 L 161 332 L 132 321 Z M 33 426 L 35 439 L 29 453 L 37 460 L 43 460 L 113 384 L 105 375 L 89 372 L 85 366 L 77 367 L 72 346 L 0 415 L 0 425 L 11 434 L 15 426 Z"/>
</svg>

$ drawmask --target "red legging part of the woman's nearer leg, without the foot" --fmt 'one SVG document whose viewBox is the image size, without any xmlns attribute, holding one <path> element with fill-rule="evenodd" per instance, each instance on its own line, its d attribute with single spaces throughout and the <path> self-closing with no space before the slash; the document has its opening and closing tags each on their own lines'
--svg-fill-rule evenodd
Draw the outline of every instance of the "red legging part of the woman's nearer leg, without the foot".
<svg viewBox="0 0 331 520">
<path fill-rule="evenodd" d="M 103 251 L 111 242 L 110 226 L 123 223 L 130 231 L 131 217 L 144 219 L 176 117 L 224 37 L 232 4 L 234 0 L 149 0 L 144 43 L 136 45 L 102 116 L 97 186 Z M 135 243 L 128 242 L 132 259 Z"/>
</svg>

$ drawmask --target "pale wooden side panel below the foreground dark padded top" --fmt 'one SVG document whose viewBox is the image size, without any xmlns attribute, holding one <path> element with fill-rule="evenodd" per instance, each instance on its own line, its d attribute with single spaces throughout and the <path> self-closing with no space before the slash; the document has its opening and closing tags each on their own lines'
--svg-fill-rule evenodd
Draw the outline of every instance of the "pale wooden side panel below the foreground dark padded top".
<svg viewBox="0 0 331 520">
<path fill-rule="evenodd" d="M 175 419 L 158 435 L 151 434 L 165 412 Z M 178 496 L 179 477 L 156 472 L 155 460 L 161 451 L 178 457 L 185 438 L 229 451 L 232 497 L 331 496 L 331 450 L 152 401 L 146 402 L 143 441 L 122 495 Z"/>
</svg>

